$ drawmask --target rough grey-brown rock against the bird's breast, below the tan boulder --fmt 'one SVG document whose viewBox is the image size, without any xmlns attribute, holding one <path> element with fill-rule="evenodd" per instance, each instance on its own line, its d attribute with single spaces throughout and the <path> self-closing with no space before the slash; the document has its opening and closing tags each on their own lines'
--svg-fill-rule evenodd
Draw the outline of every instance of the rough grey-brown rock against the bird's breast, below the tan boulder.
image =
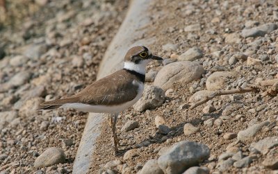
<svg viewBox="0 0 278 174">
<path fill-rule="evenodd" d="M 165 92 L 163 89 L 147 85 L 144 89 L 143 96 L 133 105 L 133 108 L 138 112 L 143 112 L 161 106 L 164 100 Z"/>
</svg>

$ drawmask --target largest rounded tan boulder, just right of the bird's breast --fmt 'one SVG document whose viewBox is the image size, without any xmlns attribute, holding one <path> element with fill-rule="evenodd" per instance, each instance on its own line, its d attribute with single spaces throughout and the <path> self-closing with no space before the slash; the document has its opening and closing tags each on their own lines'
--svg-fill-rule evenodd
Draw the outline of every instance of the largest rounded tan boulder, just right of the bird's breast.
<svg viewBox="0 0 278 174">
<path fill-rule="evenodd" d="M 170 89 L 175 82 L 186 85 L 195 79 L 201 78 L 204 69 L 196 62 L 181 61 L 167 64 L 163 67 L 154 80 L 154 85 L 161 87 L 165 91 Z"/>
</svg>

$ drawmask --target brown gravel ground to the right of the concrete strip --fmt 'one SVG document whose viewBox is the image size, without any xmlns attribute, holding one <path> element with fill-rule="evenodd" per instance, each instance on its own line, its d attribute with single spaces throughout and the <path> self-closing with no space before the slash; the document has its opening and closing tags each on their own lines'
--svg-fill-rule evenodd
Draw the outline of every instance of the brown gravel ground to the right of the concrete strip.
<svg viewBox="0 0 278 174">
<path fill-rule="evenodd" d="M 277 173 L 275 162 L 264 162 L 277 159 L 277 148 L 271 148 L 268 153 L 250 149 L 251 143 L 277 136 L 277 96 L 263 97 L 260 91 L 219 96 L 194 110 L 186 109 L 185 105 L 195 92 L 218 87 L 234 89 L 278 77 L 277 2 L 154 1 L 149 9 L 152 9 L 152 28 L 142 37 L 154 37 L 152 51 L 168 59 L 150 63 L 148 71 L 159 71 L 165 64 L 177 60 L 193 60 L 202 64 L 205 71 L 199 80 L 191 80 L 186 85 L 174 82 L 172 87 L 167 87 L 161 107 L 144 112 L 131 108 L 122 113 L 117 124 L 122 153 L 116 157 L 106 121 L 102 126 L 105 136 L 99 137 L 92 157 L 96 159 L 92 173 L 138 173 L 147 160 L 158 159 L 165 147 L 182 140 L 204 143 L 210 148 L 211 156 L 199 166 L 208 168 L 211 173 Z M 261 26 L 268 29 L 261 29 Z M 185 53 L 196 46 L 203 55 L 196 56 L 199 51 Z M 250 58 L 247 60 L 247 57 Z M 208 79 L 215 71 L 221 72 L 214 80 Z M 229 71 L 230 76 L 224 78 L 222 71 Z M 218 78 L 223 79 L 222 85 Z M 213 110 L 208 112 L 209 107 Z M 170 132 L 161 134 L 156 128 L 158 116 L 164 119 L 163 125 L 167 125 Z M 130 120 L 138 121 L 138 128 L 121 131 Z M 183 126 L 186 123 L 198 131 L 185 134 Z M 261 124 L 266 126 L 256 132 L 256 126 Z M 241 135 L 250 130 L 256 133 L 244 139 Z M 240 154 L 239 159 L 232 157 L 235 153 Z"/>
</svg>

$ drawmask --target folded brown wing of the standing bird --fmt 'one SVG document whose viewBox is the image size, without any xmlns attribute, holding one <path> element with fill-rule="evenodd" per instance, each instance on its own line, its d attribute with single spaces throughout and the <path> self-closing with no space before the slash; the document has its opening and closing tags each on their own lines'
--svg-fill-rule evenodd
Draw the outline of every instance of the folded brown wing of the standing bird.
<svg viewBox="0 0 278 174">
<path fill-rule="evenodd" d="M 74 97 L 78 97 L 80 103 L 90 105 L 118 105 L 132 101 L 137 96 L 138 86 L 134 87 L 133 80 L 136 76 L 125 71 L 117 71 L 110 76 L 101 78 L 92 85 L 86 87 Z"/>
</svg>

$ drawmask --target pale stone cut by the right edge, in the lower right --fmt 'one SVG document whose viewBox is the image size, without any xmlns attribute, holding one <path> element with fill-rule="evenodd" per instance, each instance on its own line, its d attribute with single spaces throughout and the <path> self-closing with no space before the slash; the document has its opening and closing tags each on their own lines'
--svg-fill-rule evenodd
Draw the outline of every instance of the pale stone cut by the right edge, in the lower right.
<svg viewBox="0 0 278 174">
<path fill-rule="evenodd" d="M 268 153 L 270 148 L 278 146 L 278 137 L 265 137 L 256 143 L 252 143 L 250 146 L 250 151 L 254 151 L 254 149 L 258 150 L 262 154 Z"/>
</svg>

